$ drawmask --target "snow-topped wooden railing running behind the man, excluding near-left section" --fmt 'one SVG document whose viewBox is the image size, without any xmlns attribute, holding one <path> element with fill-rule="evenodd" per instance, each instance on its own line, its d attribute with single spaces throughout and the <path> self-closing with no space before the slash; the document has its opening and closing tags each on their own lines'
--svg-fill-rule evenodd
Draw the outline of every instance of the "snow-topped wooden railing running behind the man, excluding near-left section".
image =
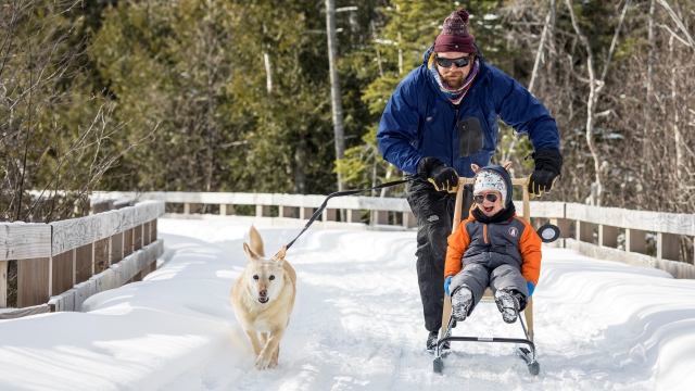
<svg viewBox="0 0 695 391">
<path fill-rule="evenodd" d="M 230 193 L 230 192 L 97 192 L 97 200 L 159 200 L 173 211 L 178 204 L 182 213 L 169 212 L 169 218 L 231 218 L 282 227 L 302 227 L 320 206 L 325 195 Z M 182 204 L 182 207 L 181 207 Z M 519 203 L 520 204 L 520 203 Z M 213 206 L 215 213 L 198 213 L 200 205 Z M 239 205 L 251 205 L 255 214 L 239 216 Z M 247 207 L 249 209 L 249 207 Z M 338 211 L 345 211 L 339 222 Z M 271 213 L 273 212 L 273 213 Z M 523 216 L 521 207 L 517 207 Z M 530 215 L 536 225 L 549 220 L 560 227 L 561 240 L 556 245 L 578 250 L 597 258 L 650 266 L 669 272 L 677 278 L 695 278 L 693 265 L 678 262 L 680 236 L 695 236 L 695 215 L 642 212 L 616 207 L 597 207 L 566 202 L 530 202 Z M 415 217 L 405 199 L 342 197 L 331 199 L 316 228 L 413 229 Z M 656 240 L 654 255 L 647 255 L 647 232 Z M 622 239 L 619 245 L 619 238 Z M 619 249 L 620 247 L 620 249 Z M 687 258 L 695 258 L 695 251 Z"/>
</svg>

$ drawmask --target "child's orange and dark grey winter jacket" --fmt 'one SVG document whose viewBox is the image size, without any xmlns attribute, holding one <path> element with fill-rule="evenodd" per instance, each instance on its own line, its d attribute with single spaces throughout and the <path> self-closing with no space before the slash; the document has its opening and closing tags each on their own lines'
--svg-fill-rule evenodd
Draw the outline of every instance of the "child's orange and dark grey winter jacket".
<svg viewBox="0 0 695 391">
<path fill-rule="evenodd" d="M 541 274 L 541 238 L 515 214 L 506 222 L 484 224 L 470 214 L 447 239 L 444 278 L 455 276 L 466 263 L 488 267 L 518 265 L 521 276 L 538 286 Z"/>
</svg>

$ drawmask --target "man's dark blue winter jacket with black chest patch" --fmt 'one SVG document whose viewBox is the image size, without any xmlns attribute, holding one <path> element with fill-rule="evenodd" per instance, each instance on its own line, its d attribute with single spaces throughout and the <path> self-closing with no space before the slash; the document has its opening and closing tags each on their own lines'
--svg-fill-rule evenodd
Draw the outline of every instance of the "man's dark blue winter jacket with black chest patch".
<svg viewBox="0 0 695 391">
<path fill-rule="evenodd" d="M 555 119 L 523 86 L 480 58 L 472 86 L 456 108 L 440 90 L 427 68 L 433 47 L 422 65 L 410 72 L 396 87 L 384 110 L 377 141 L 383 157 L 401 171 L 417 173 L 424 156 L 434 156 L 459 176 L 475 176 L 471 163 L 490 164 L 500 129 L 497 116 L 517 133 L 527 134 L 536 151 L 559 151 Z M 457 123 L 475 117 L 483 134 L 483 147 L 469 156 L 459 154 Z"/>
</svg>

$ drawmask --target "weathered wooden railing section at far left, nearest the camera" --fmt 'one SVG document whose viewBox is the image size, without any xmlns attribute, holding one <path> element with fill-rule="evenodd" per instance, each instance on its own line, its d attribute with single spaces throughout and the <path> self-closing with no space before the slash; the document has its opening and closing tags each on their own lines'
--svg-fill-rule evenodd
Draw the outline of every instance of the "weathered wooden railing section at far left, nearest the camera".
<svg viewBox="0 0 695 391">
<path fill-rule="evenodd" d="M 80 311 L 90 295 L 140 280 L 163 253 L 156 219 L 164 202 L 50 224 L 0 223 L 0 307 L 7 306 L 8 263 L 17 262 L 16 308 L 0 319 Z"/>
</svg>

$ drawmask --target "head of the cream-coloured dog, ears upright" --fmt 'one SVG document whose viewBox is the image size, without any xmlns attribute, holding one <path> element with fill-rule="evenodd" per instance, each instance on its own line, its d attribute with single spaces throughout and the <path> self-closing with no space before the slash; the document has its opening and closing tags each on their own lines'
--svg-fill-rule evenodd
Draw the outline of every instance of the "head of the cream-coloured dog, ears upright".
<svg viewBox="0 0 695 391">
<path fill-rule="evenodd" d="M 263 239 L 258 231 L 251 226 L 249 231 L 251 245 L 243 243 L 243 250 L 249 254 L 247 265 L 247 286 L 261 304 L 267 304 L 277 299 L 285 287 L 285 253 L 287 245 L 273 257 L 265 257 Z"/>
</svg>

